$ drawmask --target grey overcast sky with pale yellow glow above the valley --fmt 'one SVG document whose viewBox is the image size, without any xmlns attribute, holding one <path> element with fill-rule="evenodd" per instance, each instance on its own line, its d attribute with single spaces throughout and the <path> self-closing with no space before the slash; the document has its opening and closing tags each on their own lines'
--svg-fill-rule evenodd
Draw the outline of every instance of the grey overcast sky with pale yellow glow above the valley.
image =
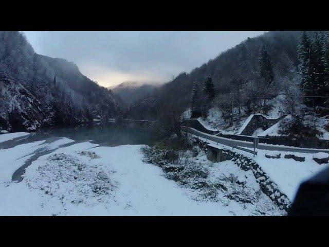
<svg viewBox="0 0 329 247">
<path fill-rule="evenodd" d="M 163 83 L 264 31 L 24 31 L 38 54 L 65 58 L 103 86 Z"/>
</svg>

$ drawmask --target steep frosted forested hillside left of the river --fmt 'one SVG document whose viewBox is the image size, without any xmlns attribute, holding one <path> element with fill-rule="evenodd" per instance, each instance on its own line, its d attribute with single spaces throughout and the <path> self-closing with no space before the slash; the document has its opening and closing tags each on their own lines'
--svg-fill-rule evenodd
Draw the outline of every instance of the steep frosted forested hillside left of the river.
<svg viewBox="0 0 329 247">
<path fill-rule="evenodd" d="M 19 31 L 0 31 L 0 129 L 74 125 L 117 116 L 119 99 L 74 63 L 36 54 Z"/>
</svg>

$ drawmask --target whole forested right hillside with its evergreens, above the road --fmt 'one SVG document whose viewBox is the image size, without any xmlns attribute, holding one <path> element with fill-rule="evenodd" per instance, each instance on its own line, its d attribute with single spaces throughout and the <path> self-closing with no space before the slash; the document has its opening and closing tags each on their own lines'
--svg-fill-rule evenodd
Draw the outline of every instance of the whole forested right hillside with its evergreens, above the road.
<svg viewBox="0 0 329 247">
<path fill-rule="evenodd" d="M 127 115 L 159 119 L 190 109 L 192 118 L 206 119 L 215 108 L 230 127 L 250 114 L 276 111 L 293 116 L 281 128 L 285 135 L 302 127 L 320 137 L 317 125 L 329 113 L 328 78 L 327 31 L 270 31 L 181 73 L 134 104 Z M 320 125 L 326 128 L 323 121 Z"/>
</svg>

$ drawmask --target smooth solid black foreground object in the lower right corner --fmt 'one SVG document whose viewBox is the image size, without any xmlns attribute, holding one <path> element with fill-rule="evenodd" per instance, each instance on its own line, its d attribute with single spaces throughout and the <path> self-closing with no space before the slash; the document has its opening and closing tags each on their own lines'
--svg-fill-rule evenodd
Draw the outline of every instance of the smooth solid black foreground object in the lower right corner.
<svg viewBox="0 0 329 247">
<path fill-rule="evenodd" d="M 329 216 L 329 168 L 300 185 L 288 216 Z"/>
</svg>

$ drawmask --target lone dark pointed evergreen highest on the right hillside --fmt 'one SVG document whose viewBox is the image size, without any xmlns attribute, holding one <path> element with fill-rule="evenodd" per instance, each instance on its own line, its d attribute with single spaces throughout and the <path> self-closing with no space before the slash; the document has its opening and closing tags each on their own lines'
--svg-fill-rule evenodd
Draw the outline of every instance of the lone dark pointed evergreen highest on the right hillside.
<svg viewBox="0 0 329 247">
<path fill-rule="evenodd" d="M 274 80 L 272 61 L 265 45 L 262 46 L 259 57 L 260 76 L 270 85 Z"/>
</svg>

